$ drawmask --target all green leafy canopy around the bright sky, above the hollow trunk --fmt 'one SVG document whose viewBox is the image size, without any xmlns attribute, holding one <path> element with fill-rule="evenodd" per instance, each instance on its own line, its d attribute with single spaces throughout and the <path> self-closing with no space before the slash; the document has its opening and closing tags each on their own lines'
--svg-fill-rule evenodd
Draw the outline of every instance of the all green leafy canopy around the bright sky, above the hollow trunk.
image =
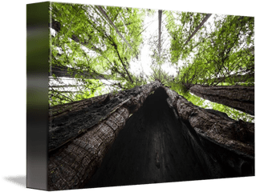
<svg viewBox="0 0 256 192">
<path fill-rule="evenodd" d="M 49 71 L 51 106 L 158 81 L 197 106 L 252 120 L 221 104 L 205 104 L 189 94 L 189 87 L 254 85 L 254 17 L 215 14 L 213 22 L 201 26 L 207 14 L 164 11 L 170 43 L 160 53 L 157 36 L 149 41 L 142 37 L 147 28 L 144 18 L 155 10 L 51 2 L 50 12 L 50 27 L 55 31 Z M 152 73 L 132 74 L 130 63 L 140 58 L 145 42 L 152 51 Z M 166 63 L 176 67 L 176 76 L 163 68 Z M 67 69 L 65 78 L 56 69 Z"/>
</svg>

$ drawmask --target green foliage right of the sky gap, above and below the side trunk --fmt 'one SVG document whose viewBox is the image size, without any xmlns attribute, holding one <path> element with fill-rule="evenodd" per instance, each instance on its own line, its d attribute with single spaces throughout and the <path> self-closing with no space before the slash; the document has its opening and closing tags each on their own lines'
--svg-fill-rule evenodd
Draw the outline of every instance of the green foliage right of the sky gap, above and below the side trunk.
<svg viewBox="0 0 256 192">
<path fill-rule="evenodd" d="M 167 13 L 169 19 L 169 34 L 172 36 L 171 61 L 184 60 L 185 64 L 179 67 L 177 77 L 168 82 L 171 89 L 183 95 L 190 102 L 203 108 L 209 107 L 219 110 L 238 120 L 254 122 L 254 117 L 234 110 L 230 107 L 218 103 L 205 101 L 189 93 L 189 87 L 194 84 L 208 86 L 254 86 L 255 66 L 254 66 L 254 18 L 227 15 L 218 20 L 214 18 L 211 28 L 216 30 L 206 30 L 202 27 L 197 32 L 200 37 L 197 41 L 191 39 L 184 46 L 185 38 L 191 34 L 191 30 L 198 24 L 197 14 L 181 13 L 180 22 L 176 24 L 172 12 Z M 190 18 L 189 18 L 190 15 Z M 199 18 L 201 20 L 201 18 Z M 187 26 L 186 26 L 187 25 Z M 190 31 L 188 33 L 188 31 Z M 179 38 L 177 38 L 179 37 Z M 185 37 L 185 38 L 183 38 Z M 196 39 L 196 38 L 194 38 Z M 193 59 L 188 58 L 189 54 L 194 54 Z M 207 105 L 205 103 L 208 103 Z"/>
</svg>

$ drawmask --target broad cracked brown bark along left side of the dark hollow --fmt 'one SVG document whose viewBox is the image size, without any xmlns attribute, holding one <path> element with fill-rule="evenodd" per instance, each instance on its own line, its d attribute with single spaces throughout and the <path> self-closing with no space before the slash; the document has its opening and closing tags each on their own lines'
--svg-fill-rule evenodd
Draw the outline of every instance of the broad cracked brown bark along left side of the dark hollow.
<svg viewBox="0 0 256 192">
<path fill-rule="evenodd" d="M 159 82 L 153 82 L 116 95 L 53 107 L 56 113 L 49 127 L 49 190 L 83 186 L 100 166 L 129 116 L 158 86 Z"/>
</svg>

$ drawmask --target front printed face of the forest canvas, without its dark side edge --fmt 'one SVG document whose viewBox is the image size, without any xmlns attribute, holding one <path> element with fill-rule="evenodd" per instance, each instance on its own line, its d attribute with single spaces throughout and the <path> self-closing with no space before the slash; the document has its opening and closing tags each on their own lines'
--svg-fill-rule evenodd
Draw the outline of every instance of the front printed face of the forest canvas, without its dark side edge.
<svg viewBox="0 0 256 192">
<path fill-rule="evenodd" d="M 255 176 L 254 17 L 49 14 L 48 190 Z"/>
</svg>

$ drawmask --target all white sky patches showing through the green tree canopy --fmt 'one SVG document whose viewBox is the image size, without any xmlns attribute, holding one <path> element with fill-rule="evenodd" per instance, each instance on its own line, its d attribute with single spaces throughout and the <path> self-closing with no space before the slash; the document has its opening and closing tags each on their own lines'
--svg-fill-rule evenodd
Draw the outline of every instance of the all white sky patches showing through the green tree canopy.
<svg viewBox="0 0 256 192">
<path fill-rule="evenodd" d="M 122 9 L 124 9 L 125 7 L 122 7 Z M 139 8 L 141 9 L 141 8 Z M 162 14 L 162 18 L 161 18 L 161 56 L 164 50 L 167 51 L 167 53 L 169 53 L 169 49 L 170 49 L 170 40 L 172 39 L 170 37 L 169 32 L 166 29 L 166 25 L 167 25 L 167 17 L 166 17 L 166 12 L 170 11 L 173 14 L 173 18 L 174 18 L 174 23 L 175 25 L 181 25 L 181 21 L 179 17 L 179 15 L 177 13 L 181 13 L 182 11 L 177 11 L 177 10 L 163 10 L 163 14 Z M 95 14 L 96 17 L 96 14 Z M 209 25 L 209 23 L 213 23 L 214 21 L 217 22 L 217 20 L 223 19 L 225 18 L 226 15 L 224 14 L 212 14 L 211 17 L 209 17 L 209 19 L 205 22 L 204 26 L 206 27 L 206 32 L 210 33 L 213 30 L 216 30 L 214 28 L 214 25 Z M 157 46 L 158 46 L 158 28 L 159 28 L 159 18 L 158 18 L 158 10 L 155 10 L 155 13 L 152 14 L 151 16 L 148 16 L 148 14 L 145 15 L 144 17 L 144 31 L 141 33 L 142 34 L 142 38 L 143 38 L 143 42 L 140 45 L 140 55 L 138 55 L 138 58 L 132 58 L 131 61 L 129 62 L 130 64 L 130 69 L 129 71 L 132 74 L 136 74 L 136 75 L 140 75 L 143 74 L 144 78 L 147 79 L 147 82 L 149 82 L 148 77 L 152 74 L 152 68 L 150 66 L 152 66 L 152 50 L 157 50 Z M 51 34 L 55 36 L 56 32 L 55 30 L 53 30 L 52 28 L 50 29 Z M 107 30 L 108 31 L 108 30 Z M 205 33 L 205 32 L 204 32 Z M 186 37 L 189 38 L 189 37 Z M 200 38 L 200 35 L 197 33 L 193 39 L 198 42 L 198 39 Z M 71 38 L 69 38 L 70 41 Z M 87 47 L 85 46 L 81 46 L 82 49 L 89 54 L 90 56 L 94 56 L 97 53 L 94 50 L 89 50 L 87 49 Z M 58 49 L 59 47 L 57 47 Z M 101 47 L 103 50 L 105 49 L 105 47 Z M 129 49 L 129 47 L 127 47 L 127 49 Z M 67 50 L 67 52 L 69 52 Z M 59 50 L 59 54 L 63 54 L 61 53 L 61 51 Z M 67 53 L 68 54 L 68 53 Z M 168 58 L 168 57 L 167 57 Z M 192 62 L 193 58 L 193 53 L 191 53 L 189 55 L 189 57 L 187 58 L 187 61 Z M 169 75 L 173 75 L 176 76 L 177 75 L 177 70 L 179 67 L 184 65 L 184 61 L 182 61 L 181 59 L 177 62 L 177 66 L 173 65 L 171 62 L 169 62 L 169 59 L 165 59 L 165 62 L 161 64 L 161 68 L 162 70 L 164 70 L 166 73 L 168 73 Z M 67 66 L 70 66 L 67 64 Z M 110 70 L 106 70 L 103 72 L 103 74 L 110 74 Z M 71 79 L 65 79 L 65 78 L 61 78 L 63 80 L 63 83 L 68 83 L 68 84 L 72 84 L 75 83 L 75 81 L 71 81 Z M 113 80 L 101 80 L 101 82 L 104 82 L 105 84 L 109 85 L 110 82 L 114 82 Z M 53 81 L 51 80 L 51 83 L 53 83 Z M 111 90 L 111 87 L 109 86 L 109 89 Z M 65 90 L 75 90 L 75 88 L 71 88 L 71 87 L 66 87 Z"/>
</svg>

